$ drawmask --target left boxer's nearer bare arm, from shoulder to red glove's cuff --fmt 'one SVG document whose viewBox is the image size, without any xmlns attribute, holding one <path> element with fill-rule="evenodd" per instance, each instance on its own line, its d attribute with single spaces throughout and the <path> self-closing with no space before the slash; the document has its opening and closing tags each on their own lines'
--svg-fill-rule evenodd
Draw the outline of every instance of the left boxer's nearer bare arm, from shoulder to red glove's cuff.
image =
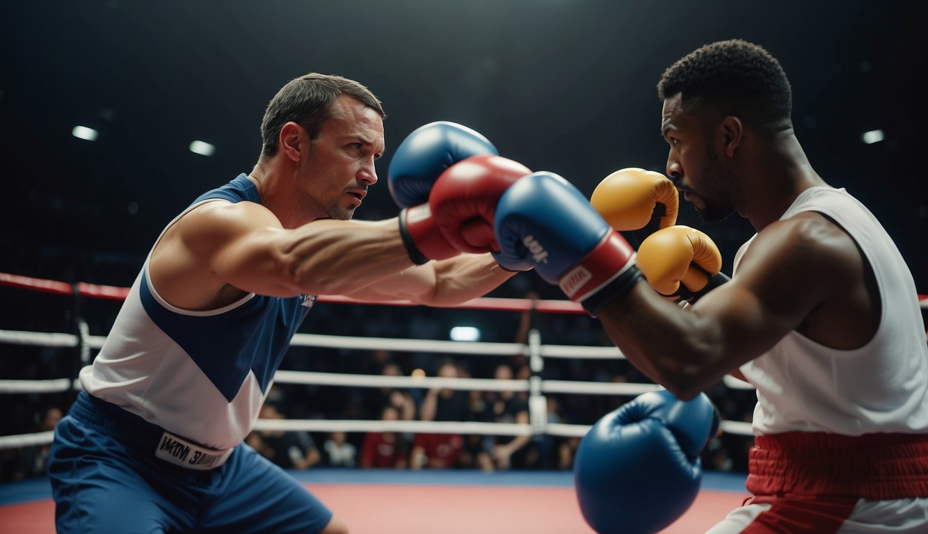
<svg viewBox="0 0 928 534">
<path fill-rule="evenodd" d="M 228 303 L 216 300 L 230 288 L 274 297 L 341 295 L 411 265 L 395 219 L 322 220 L 289 230 L 259 204 L 213 201 L 165 232 L 150 270 L 162 297 L 198 310 Z"/>
</svg>

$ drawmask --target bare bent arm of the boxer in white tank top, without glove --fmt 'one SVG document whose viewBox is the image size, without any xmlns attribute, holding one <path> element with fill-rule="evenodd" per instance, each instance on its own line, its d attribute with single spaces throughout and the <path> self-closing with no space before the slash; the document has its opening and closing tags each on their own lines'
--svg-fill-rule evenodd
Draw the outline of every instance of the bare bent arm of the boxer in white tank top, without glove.
<svg viewBox="0 0 928 534">
<path fill-rule="evenodd" d="M 639 283 L 599 317 L 655 382 L 689 399 L 772 348 L 853 278 L 854 243 L 817 214 L 767 226 L 737 276 L 684 311 Z"/>
</svg>

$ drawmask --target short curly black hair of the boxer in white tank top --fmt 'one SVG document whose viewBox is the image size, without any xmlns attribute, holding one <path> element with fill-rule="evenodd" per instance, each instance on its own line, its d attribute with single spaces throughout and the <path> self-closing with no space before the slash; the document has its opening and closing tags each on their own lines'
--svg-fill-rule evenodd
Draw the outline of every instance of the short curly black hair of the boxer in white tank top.
<svg viewBox="0 0 928 534">
<path fill-rule="evenodd" d="M 793 90 L 780 61 L 758 44 L 741 39 L 705 44 L 677 60 L 661 76 L 657 94 L 681 95 L 726 115 L 771 124 L 788 121 Z"/>
</svg>

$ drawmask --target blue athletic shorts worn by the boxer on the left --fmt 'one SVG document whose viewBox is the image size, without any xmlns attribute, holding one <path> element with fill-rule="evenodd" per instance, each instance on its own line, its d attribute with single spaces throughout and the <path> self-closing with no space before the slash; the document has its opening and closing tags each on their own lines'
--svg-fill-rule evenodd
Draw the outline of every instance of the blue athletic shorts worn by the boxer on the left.
<svg viewBox="0 0 928 534">
<path fill-rule="evenodd" d="M 193 471 L 154 456 L 161 428 L 85 392 L 48 459 L 58 533 L 318 532 L 332 513 L 283 469 L 239 444 Z"/>
</svg>

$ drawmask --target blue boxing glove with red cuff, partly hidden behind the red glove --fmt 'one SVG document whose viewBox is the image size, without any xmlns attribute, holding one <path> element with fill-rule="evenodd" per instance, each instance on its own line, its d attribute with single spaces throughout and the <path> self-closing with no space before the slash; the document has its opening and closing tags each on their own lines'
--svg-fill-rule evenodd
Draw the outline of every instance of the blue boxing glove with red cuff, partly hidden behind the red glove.
<svg viewBox="0 0 928 534">
<path fill-rule="evenodd" d="M 432 219 L 429 194 L 446 169 L 471 156 L 496 155 L 486 137 L 454 122 L 420 126 L 400 143 L 390 160 L 387 186 L 400 211 L 400 235 L 416 264 L 444 260 L 459 251 L 448 243 Z"/>
</svg>

